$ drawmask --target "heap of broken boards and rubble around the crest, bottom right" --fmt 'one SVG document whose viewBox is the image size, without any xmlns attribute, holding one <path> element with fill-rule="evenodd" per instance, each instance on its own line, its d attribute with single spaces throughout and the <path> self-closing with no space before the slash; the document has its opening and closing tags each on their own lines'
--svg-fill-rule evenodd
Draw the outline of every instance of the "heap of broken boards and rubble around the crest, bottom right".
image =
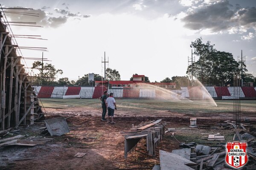
<svg viewBox="0 0 256 170">
<path fill-rule="evenodd" d="M 216 142 L 217 143 L 217 142 Z M 160 166 L 153 170 L 231 170 L 226 164 L 226 146 L 218 142 L 218 146 L 209 147 L 197 144 L 192 148 L 172 150 L 172 153 L 160 150 Z M 247 141 L 248 163 L 243 170 L 256 169 L 256 141 Z"/>
</svg>

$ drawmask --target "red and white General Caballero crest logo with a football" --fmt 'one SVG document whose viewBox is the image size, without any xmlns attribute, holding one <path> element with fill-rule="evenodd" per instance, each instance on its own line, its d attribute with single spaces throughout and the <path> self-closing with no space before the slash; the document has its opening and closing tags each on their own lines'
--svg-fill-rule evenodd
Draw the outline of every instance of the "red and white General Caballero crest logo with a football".
<svg viewBox="0 0 256 170">
<path fill-rule="evenodd" d="M 246 143 L 227 143 L 226 162 L 232 167 L 241 167 L 247 163 Z"/>
</svg>

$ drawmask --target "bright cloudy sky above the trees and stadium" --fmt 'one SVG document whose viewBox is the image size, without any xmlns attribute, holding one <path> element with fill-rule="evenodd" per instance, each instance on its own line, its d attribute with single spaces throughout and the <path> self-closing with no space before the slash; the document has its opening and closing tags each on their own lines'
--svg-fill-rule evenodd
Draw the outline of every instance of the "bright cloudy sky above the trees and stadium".
<svg viewBox="0 0 256 170">
<path fill-rule="evenodd" d="M 39 14 L 6 13 L 6 17 L 42 26 L 12 26 L 12 31 L 47 39 L 16 38 L 19 46 L 46 47 L 44 58 L 64 72 L 58 79 L 77 80 L 88 73 L 104 76 L 104 51 L 107 67 L 119 71 L 122 80 L 135 73 L 151 82 L 185 76 L 189 45 L 199 37 L 236 60 L 242 50 L 248 73 L 256 77 L 256 0 L 0 0 L 0 4 L 33 8 L 25 12 Z M 23 57 L 42 56 L 41 51 L 21 51 Z M 33 60 L 25 61 L 32 67 Z"/>
</svg>

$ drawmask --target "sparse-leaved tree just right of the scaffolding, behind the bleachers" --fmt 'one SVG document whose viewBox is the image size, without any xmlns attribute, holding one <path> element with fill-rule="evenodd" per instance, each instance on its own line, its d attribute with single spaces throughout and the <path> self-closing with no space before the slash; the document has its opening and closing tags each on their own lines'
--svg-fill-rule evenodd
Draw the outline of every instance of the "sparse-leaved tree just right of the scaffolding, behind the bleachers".
<svg viewBox="0 0 256 170">
<path fill-rule="evenodd" d="M 43 66 L 43 70 L 42 70 L 42 66 Z M 49 63 L 42 64 L 41 61 L 35 61 L 32 64 L 32 69 L 37 69 L 39 71 L 39 74 L 35 75 L 37 76 L 35 79 L 35 82 L 38 82 L 38 84 L 41 84 L 41 85 L 53 84 L 57 74 L 63 74 L 63 71 L 61 69 L 56 69 L 54 65 Z M 43 74 L 42 74 L 42 71 L 43 71 Z"/>
</svg>

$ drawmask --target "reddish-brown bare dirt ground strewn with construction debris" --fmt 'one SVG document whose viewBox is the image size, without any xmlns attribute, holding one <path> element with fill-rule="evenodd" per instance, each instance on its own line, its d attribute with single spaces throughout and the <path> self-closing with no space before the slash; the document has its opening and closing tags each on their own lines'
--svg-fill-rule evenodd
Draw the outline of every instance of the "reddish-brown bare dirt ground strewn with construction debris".
<svg viewBox="0 0 256 170">
<path fill-rule="evenodd" d="M 6 146 L 0 147 L 1 170 L 114 170 L 129 168 L 152 168 L 159 164 L 159 149 L 171 152 L 178 149 L 179 144 L 169 134 L 157 146 L 156 157 L 147 156 L 145 141 L 138 144 L 137 151 L 128 154 L 124 159 L 124 137 L 121 131 L 131 128 L 131 124 L 138 125 L 146 119 L 163 119 L 167 127 L 188 128 L 190 118 L 196 117 L 198 125 L 205 125 L 195 130 L 176 131 L 175 136 L 180 142 L 198 142 L 201 133 L 221 133 L 226 140 L 233 138 L 233 130 L 219 130 L 209 128 L 206 123 L 221 123 L 233 117 L 232 112 L 224 113 L 197 113 L 186 114 L 169 110 L 155 111 L 148 114 L 147 110 L 129 111 L 120 109 L 115 112 L 116 124 L 107 124 L 101 121 L 101 109 L 96 108 L 46 108 L 47 119 L 58 116 L 72 116 L 67 119 L 70 129 L 75 126 L 81 127 L 71 130 L 62 136 L 46 136 L 54 138 L 46 145 L 35 147 Z M 150 116 L 148 116 L 150 115 Z M 244 112 L 243 117 L 250 117 L 251 124 L 256 125 L 254 112 Z M 36 124 L 29 127 L 20 127 L 20 133 L 27 136 L 41 136 L 40 127 Z M 96 139 L 90 139 L 93 137 Z M 68 139 L 69 142 L 66 142 Z M 73 157 L 76 153 L 86 153 L 82 158 Z M 33 158 L 30 160 L 14 161 L 15 159 Z"/>
</svg>

